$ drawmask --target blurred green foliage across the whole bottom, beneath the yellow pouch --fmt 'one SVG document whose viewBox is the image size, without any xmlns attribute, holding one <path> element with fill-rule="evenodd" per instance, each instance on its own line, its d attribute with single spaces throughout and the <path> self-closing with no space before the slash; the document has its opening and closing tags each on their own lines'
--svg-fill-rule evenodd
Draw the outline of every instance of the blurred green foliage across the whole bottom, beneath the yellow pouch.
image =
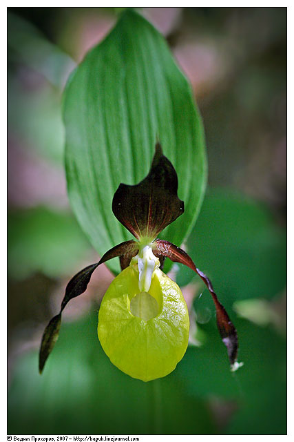
<svg viewBox="0 0 294 442">
<path fill-rule="evenodd" d="M 10 387 L 8 432 L 285 432 L 286 345 L 272 329 L 260 329 L 246 320 L 236 322 L 244 367 L 233 375 L 216 327 L 207 325 L 203 327 L 209 336 L 207 345 L 189 347 L 169 376 L 143 383 L 110 363 L 96 336 L 97 316 L 94 312 L 62 327 L 42 377 L 36 352 L 19 361 Z M 233 404 L 218 429 L 209 407 L 213 398 L 221 398 L 224 410 L 228 401 Z M 224 425 L 226 420 L 229 423 Z"/>
</svg>

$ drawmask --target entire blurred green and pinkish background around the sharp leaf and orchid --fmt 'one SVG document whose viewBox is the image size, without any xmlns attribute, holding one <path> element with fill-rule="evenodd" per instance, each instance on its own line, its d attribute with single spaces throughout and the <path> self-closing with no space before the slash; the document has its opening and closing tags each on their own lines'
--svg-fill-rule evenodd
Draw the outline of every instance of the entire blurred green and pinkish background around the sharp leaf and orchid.
<svg viewBox="0 0 294 442">
<path fill-rule="evenodd" d="M 142 8 L 191 81 L 209 187 L 185 248 L 240 338 L 235 374 L 209 294 L 180 265 L 190 345 L 166 378 L 120 372 L 96 336 L 103 266 L 37 352 L 71 276 L 96 262 L 63 168 L 68 75 L 117 8 L 8 8 L 8 434 L 286 434 L 286 8 Z M 180 244 L 178 244 L 180 245 Z"/>
</svg>

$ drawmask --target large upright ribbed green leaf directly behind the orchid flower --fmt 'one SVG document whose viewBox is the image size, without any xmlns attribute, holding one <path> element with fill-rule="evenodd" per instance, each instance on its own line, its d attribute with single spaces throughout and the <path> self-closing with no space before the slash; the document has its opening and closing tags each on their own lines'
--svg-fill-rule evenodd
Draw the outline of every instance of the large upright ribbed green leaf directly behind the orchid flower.
<svg viewBox="0 0 294 442">
<path fill-rule="evenodd" d="M 127 10 L 70 78 L 63 108 L 67 187 L 72 208 L 101 255 L 132 238 L 112 213 L 123 182 L 147 175 L 156 138 L 178 174 L 185 213 L 161 237 L 181 244 L 206 183 L 204 134 L 191 87 L 165 39 Z M 119 271 L 118 263 L 109 263 Z"/>
</svg>

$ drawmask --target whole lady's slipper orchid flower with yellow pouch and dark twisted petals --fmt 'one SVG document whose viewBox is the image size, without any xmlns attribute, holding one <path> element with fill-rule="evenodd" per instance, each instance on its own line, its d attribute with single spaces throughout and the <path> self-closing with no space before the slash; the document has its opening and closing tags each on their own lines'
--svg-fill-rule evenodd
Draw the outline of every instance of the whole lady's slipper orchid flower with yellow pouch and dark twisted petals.
<svg viewBox="0 0 294 442">
<path fill-rule="evenodd" d="M 160 267 L 169 258 L 198 273 L 216 306 L 220 336 L 227 347 L 231 369 L 237 369 L 238 337 L 210 280 L 191 258 L 171 242 L 156 239 L 178 216 L 184 202 L 178 198 L 178 177 L 160 144 L 149 174 L 135 186 L 120 184 L 112 201 L 114 215 L 136 238 L 107 251 L 99 262 L 81 270 L 70 280 L 61 311 L 45 329 L 40 349 L 39 370 L 43 371 L 61 325 L 67 302 L 87 288 L 93 271 L 118 256 L 121 273 L 114 278 L 101 302 L 98 338 L 116 367 L 142 381 L 166 376 L 184 356 L 189 338 L 187 305 L 176 282 Z"/>
</svg>

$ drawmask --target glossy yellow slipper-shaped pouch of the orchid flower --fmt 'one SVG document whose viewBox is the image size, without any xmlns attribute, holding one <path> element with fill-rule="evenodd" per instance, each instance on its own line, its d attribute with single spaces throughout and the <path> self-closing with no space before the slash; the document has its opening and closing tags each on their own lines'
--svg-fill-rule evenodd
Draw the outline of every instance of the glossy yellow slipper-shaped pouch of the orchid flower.
<svg viewBox="0 0 294 442">
<path fill-rule="evenodd" d="M 130 311 L 138 294 L 138 271 L 127 267 L 107 289 L 98 316 L 98 338 L 110 361 L 142 381 L 172 372 L 189 338 L 188 309 L 176 282 L 156 269 L 149 293 L 160 309 L 155 318 L 145 321 Z"/>
</svg>

